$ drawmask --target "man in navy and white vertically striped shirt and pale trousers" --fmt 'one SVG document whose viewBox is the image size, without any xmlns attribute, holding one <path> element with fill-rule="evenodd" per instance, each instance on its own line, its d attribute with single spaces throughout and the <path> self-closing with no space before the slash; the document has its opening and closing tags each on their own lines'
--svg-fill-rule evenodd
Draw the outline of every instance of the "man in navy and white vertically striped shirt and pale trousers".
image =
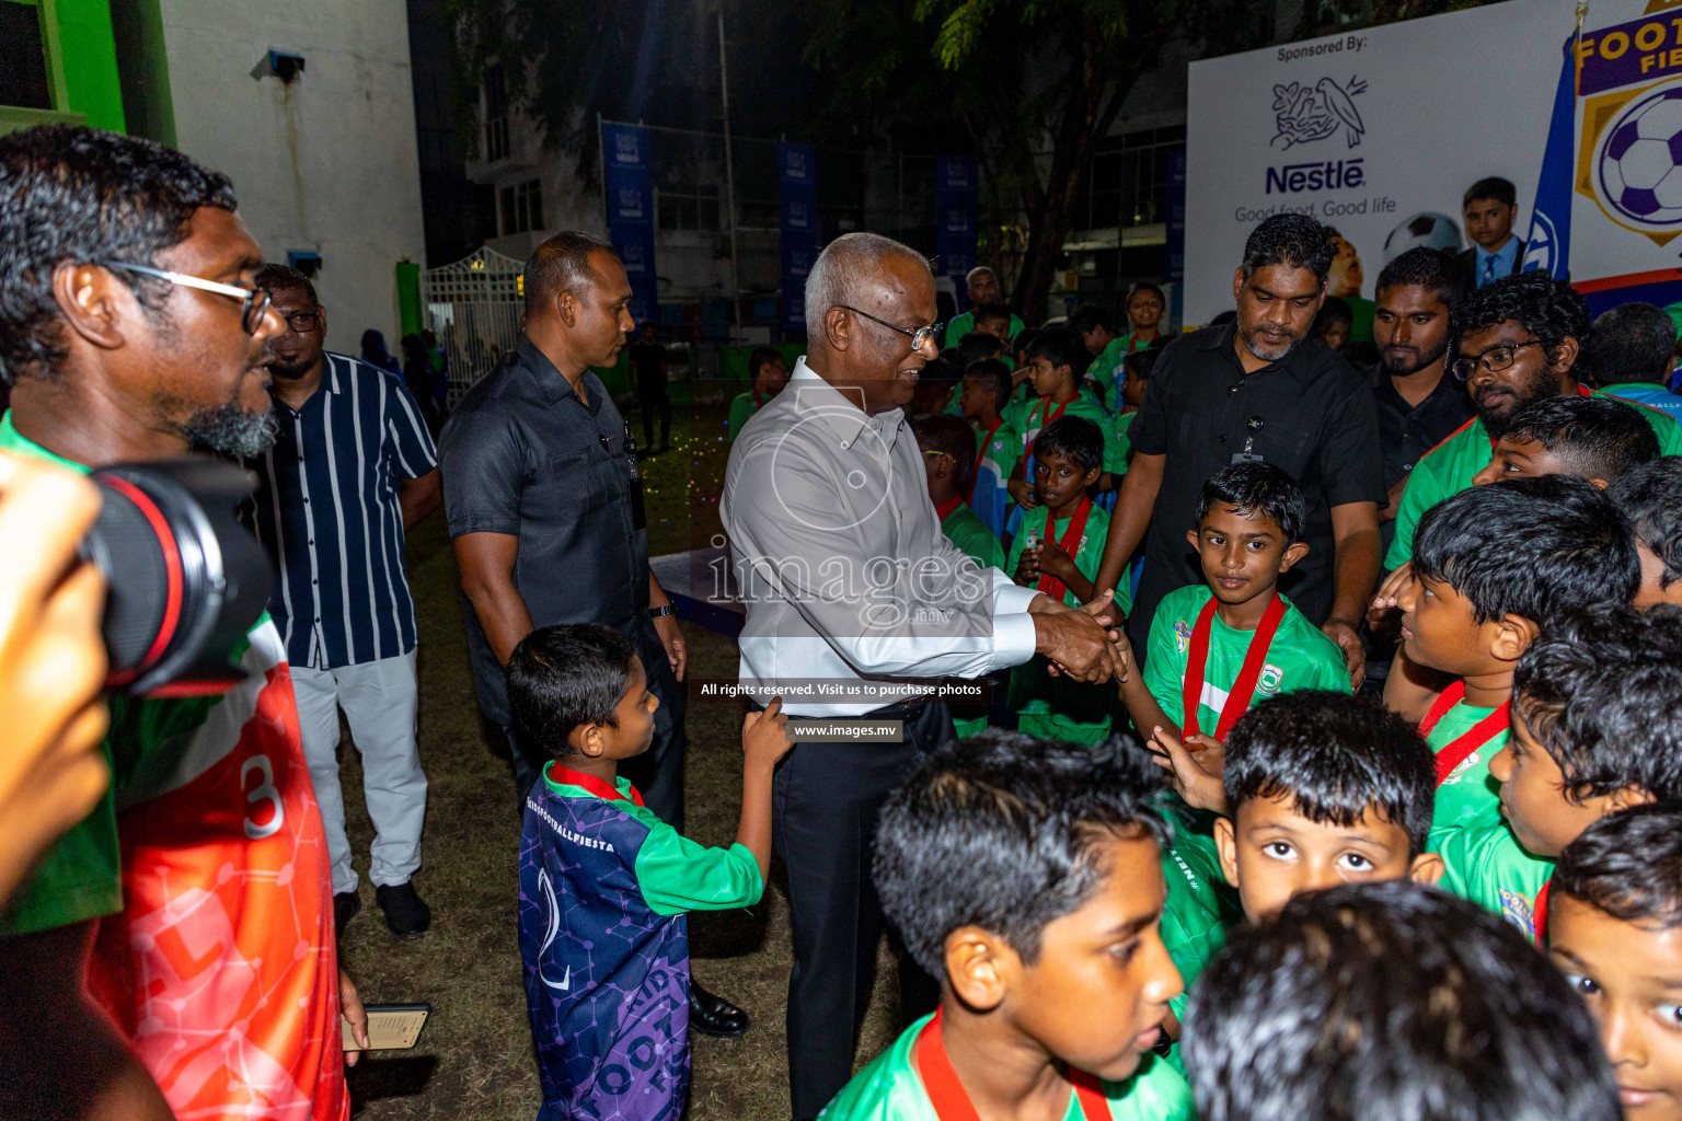
<svg viewBox="0 0 1682 1121">
<path fill-rule="evenodd" d="M 249 519 L 279 570 L 269 613 L 286 640 L 326 825 L 333 918 L 343 929 L 362 909 L 338 785 L 343 708 L 375 829 L 368 879 L 392 933 L 419 938 L 432 913 L 410 882 L 426 775 L 404 531 L 442 501 L 437 452 L 402 378 L 325 350 L 326 309 L 308 277 L 271 264 L 257 284 L 286 329 L 269 343 L 279 435 L 262 459 L 246 461 L 259 477 Z"/>
</svg>

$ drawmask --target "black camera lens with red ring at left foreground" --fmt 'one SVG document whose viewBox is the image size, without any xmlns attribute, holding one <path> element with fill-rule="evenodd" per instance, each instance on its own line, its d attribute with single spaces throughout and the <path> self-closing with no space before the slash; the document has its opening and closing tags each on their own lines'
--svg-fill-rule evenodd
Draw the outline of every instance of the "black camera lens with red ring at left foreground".
<svg viewBox="0 0 1682 1121">
<path fill-rule="evenodd" d="M 225 692 L 235 654 L 269 603 L 269 558 L 239 524 L 249 471 L 207 455 L 93 472 L 103 506 L 81 555 L 109 587 L 101 625 L 106 689 L 145 696 Z"/>
</svg>

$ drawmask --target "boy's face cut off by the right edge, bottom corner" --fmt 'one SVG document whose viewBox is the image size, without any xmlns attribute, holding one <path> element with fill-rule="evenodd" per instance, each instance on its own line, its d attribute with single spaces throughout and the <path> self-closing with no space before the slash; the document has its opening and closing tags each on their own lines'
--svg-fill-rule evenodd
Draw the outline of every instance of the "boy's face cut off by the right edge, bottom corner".
<svg viewBox="0 0 1682 1121">
<path fill-rule="evenodd" d="M 1682 807 L 1595 822 L 1549 894 L 1549 956 L 1600 1022 L 1625 1121 L 1682 1121 Z"/>
</svg>

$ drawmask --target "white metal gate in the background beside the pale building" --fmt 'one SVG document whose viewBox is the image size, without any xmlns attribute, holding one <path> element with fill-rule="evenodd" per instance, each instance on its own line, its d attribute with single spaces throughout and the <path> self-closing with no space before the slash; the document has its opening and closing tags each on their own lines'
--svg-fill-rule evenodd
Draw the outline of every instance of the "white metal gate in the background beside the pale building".
<svg viewBox="0 0 1682 1121">
<path fill-rule="evenodd" d="M 520 339 L 525 262 L 489 247 L 420 274 L 427 326 L 449 355 L 449 403 Z"/>
</svg>

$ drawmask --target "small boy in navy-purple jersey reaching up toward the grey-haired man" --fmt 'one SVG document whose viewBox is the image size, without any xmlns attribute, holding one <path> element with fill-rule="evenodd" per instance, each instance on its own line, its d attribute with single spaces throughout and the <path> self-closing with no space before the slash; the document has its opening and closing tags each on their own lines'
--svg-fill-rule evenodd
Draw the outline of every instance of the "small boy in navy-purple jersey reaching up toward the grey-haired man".
<svg viewBox="0 0 1682 1121">
<path fill-rule="evenodd" d="M 631 642 L 600 624 L 540 627 L 508 659 L 508 708 L 555 760 L 526 797 L 520 956 L 543 1087 L 540 1121 L 683 1113 L 690 1084 L 685 914 L 759 903 L 770 775 L 789 751 L 780 697 L 742 724 L 730 849 L 661 822 L 617 776 L 654 738 L 659 697 Z"/>
</svg>

